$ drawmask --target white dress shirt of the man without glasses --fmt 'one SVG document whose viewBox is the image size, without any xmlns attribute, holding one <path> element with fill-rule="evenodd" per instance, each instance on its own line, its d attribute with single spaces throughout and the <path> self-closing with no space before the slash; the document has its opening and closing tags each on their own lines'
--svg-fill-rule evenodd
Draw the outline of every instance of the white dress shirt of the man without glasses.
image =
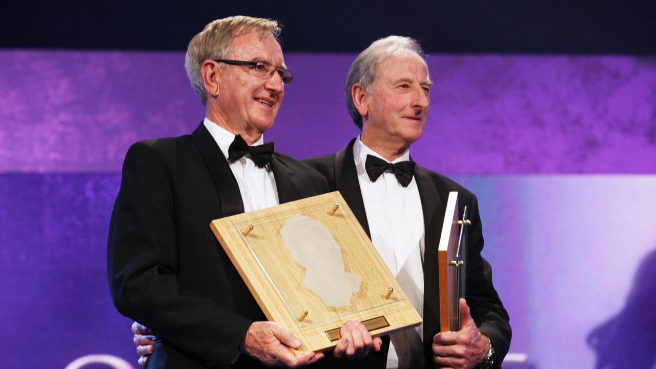
<svg viewBox="0 0 656 369">
<path fill-rule="evenodd" d="M 371 182 L 365 171 L 367 155 L 385 160 L 356 139 L 353 156 L 358 172 L 362 200 L 371 232 L 371 242 L 396 276 L 409 300 L 424 316 L 424 214 L 417 181 L 400 185 L 394 173 L 386 171 Z M 409 150 L 392 163 L 410 159 Z M 387 161 L 387 160 L 385 160 Z M 423 324 L 390 336 L 387 368 L 422 368 Z"/>
</svg>

